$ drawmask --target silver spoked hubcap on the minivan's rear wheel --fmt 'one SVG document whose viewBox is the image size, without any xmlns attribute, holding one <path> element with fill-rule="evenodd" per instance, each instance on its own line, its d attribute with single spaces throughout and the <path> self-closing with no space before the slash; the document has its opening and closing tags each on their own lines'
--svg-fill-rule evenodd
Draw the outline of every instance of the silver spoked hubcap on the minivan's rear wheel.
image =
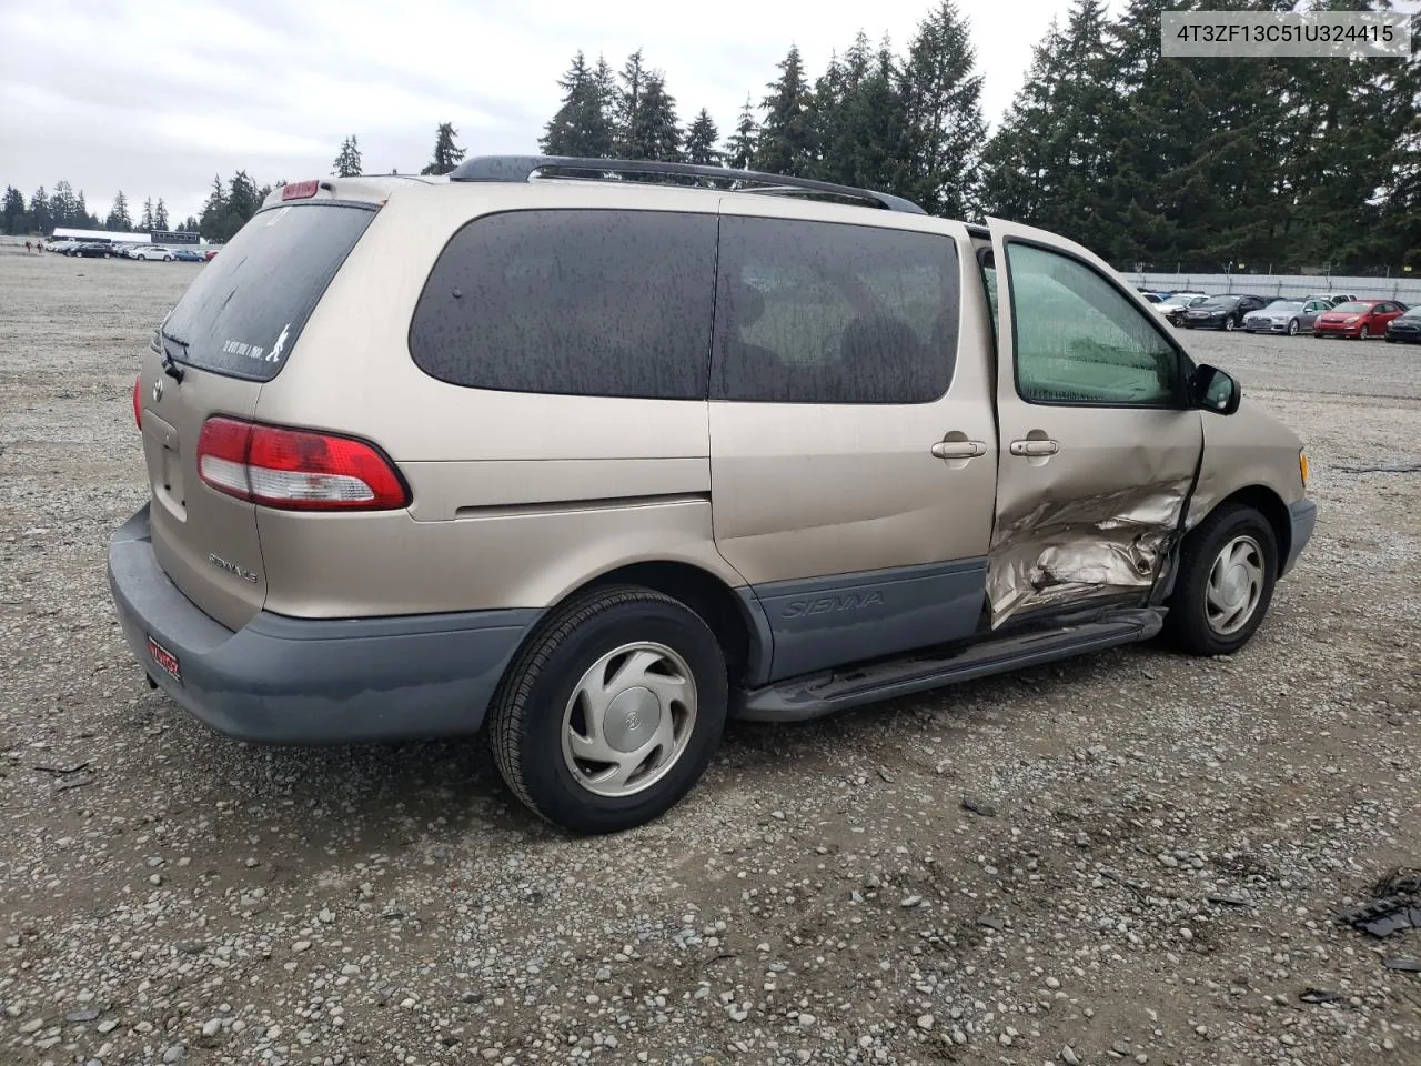
<svg viewBox="0 0 1421 1066">
<path fill-rule="evenodd" d="M 597 796 L 649 789 L 676 765 L 696 723 L 691 667 L 664 644 L 625 644 L 594 662 L 563 712 L 563 762 Z"/>
</svg>

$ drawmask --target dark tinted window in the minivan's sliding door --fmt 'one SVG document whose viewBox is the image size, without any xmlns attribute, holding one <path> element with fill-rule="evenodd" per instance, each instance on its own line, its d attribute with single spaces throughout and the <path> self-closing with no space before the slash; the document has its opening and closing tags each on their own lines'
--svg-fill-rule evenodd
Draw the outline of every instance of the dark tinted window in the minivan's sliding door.
<svg viewBox="0 0 1421 1066">
<path fill-rule="evenodd" d="M 958 348 L 956 243 L 908 230 L 723 217 L 715 399 L 922 404 Z"/>
</svg>

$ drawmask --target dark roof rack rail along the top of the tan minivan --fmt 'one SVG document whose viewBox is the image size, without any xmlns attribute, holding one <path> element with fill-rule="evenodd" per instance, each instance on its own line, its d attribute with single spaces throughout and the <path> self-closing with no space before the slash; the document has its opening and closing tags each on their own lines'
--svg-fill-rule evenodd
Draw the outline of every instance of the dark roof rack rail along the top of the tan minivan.
<svg viewBox="0 0 1421 1066">
<path fill-rule="evenodd" d="M 887 192 L 855 189 L 851 185 L 820 182 L 813 178 L 790 178 L 780 173 L 764 173 L 762 171 L 737 171 L 729 166 L 664 163 L 654 159 L 590 159 L 568 155 L 476 155 L 472 159 L 465 159 L 459 163 L 449 173 L 449 181 L 526 182 L 531 181 L 540 171 L 573 171 L 584 176 L 649 173 L 675 178 L 710 178 L 720 182 L 729 182 L 735 186 L 767 186 L 760 189 L 743 189 L 743 192 L 774 192 L 779 195 L 809 192 L 818 193 L 820 196 L 838 196 L 848 200 L 861 200 L 887 210 L 901 210 L 909 215 L 926 215 L 926 212 L 912 200 L 905 200 L 902 196 L 894 196 Z"/>
</svg>

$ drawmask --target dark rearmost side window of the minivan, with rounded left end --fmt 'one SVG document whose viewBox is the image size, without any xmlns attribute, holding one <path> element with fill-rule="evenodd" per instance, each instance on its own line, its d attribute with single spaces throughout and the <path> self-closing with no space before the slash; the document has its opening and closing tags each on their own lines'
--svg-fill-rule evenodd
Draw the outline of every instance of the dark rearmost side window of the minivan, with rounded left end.
<svg viewBox="0 0 1421 1066">
<path fill-rule="evenodd" d="M 455 385 L 705 399 L 713 215 L 519 210 L 475 219 L 435 263 L 409 351 Z"/>
</svg>

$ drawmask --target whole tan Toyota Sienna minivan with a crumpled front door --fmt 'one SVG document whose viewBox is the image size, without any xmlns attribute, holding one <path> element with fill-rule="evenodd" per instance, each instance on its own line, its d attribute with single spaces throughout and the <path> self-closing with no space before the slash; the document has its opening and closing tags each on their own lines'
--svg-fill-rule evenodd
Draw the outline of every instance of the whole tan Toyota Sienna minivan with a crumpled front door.
<svg viewBox="0 0 1421 1066">
<path fill-rule="evenodd" d="M 797 721 L 1161 631 L 1242 647 L 1297 436 L 1088 250 L 746 171 L 279 188 L 155 331 L 109 583 L 270 743 L 472 733 L 574 831 Z"/>
</svg>

